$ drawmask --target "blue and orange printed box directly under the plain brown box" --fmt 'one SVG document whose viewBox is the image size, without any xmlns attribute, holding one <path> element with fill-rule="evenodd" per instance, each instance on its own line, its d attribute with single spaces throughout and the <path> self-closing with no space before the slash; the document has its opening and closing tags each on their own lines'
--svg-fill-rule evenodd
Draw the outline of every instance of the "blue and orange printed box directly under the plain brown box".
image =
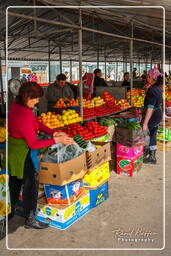
<svg viewBox="0 0 171 256">
<path fill-rule="evenodd" d="M 64 186 L 44 185 L 48 204 L 70 205 L 77 200 L 84 191 L 83 181 L 73 181 Z"/>
</svg>

